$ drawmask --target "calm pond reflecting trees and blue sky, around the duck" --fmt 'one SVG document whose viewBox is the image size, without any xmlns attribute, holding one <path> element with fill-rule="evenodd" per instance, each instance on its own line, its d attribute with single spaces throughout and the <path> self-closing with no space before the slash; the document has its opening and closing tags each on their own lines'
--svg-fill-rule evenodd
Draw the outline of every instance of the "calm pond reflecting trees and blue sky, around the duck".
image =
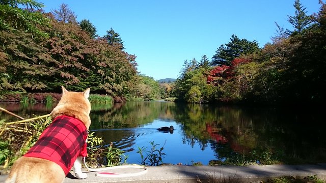
<svg viewBox="0 0 326 183">
<path fill-rule="evenodd" d="M 25 118 L 48 114 L 53 105 L 0 103 Z M 92 105 L 91 131 L 104 144 L 126 151 L 127 163 L 140 163 L 139 148 L 164 147 L 164 163 L 191 165 L 232 154 L 269 148 L 285 156 L 325 162 L 323 110 L 312 107 L 239 107 L 173 102 Z M 16 120 L 0 112 L 0 119 Z M 174 126 L 173 133 L 157 130 Z"/>
</svg>

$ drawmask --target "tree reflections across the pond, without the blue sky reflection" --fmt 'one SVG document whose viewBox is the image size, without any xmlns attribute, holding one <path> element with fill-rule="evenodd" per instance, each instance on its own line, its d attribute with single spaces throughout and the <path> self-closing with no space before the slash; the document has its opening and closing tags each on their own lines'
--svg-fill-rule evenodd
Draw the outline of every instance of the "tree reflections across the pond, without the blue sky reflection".
<svg viewBox="0 0 326 183">
<path fill-rule="evenodd" d="M 52 110 L 44 104 L 2 104 L 10 111 L 30 117 Z M 250 108 L 179 104 L 172 102 L 126 102 L 92 104 L 91 130 L 141 127 L 155 119 L 176 121 L 183 143 L 212 148 L 216 158 L 231 153 L 248 153 L 255 148 L 282 149 L 287 156 L 326 160 L 326 133 L 321 109 Z M 3 113 L 0 113 L 3 117 Z M 132 131 L 96 132 L 105 142 L 128 148 L 137 138 Z M 125 144 L 123 144 L 125 142 Z"/>
</svg>

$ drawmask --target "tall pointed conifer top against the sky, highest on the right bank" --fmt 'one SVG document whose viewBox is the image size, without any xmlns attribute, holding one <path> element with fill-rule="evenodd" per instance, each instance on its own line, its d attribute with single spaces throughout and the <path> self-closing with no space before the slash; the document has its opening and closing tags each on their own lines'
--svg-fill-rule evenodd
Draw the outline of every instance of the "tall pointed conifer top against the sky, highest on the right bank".
<svg viewBox="0 0 326 183">
<path fill-rule="evenodd" d="M 312 17 L 307 15 L 306 8 L 302 6 L 300 0 L 294 2 L 295 13 L 294 16 L 288 16 L 288 21 L 293 25 L 294 31 L 289 33 L 301 33 L 310 23 Z"/>
</svg>

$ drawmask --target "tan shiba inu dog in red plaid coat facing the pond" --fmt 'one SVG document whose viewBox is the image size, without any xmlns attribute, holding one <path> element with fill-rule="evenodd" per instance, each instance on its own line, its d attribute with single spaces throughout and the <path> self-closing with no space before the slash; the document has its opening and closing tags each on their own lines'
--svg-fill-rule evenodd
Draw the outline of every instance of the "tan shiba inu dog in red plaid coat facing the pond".
<svg viewBox="0 0 326 183">
<path fill-rule="evenodd" d="M 62 86 L 62 97 L 52 110 L 52 123 L 33 147 L 11 168 L 8 182 L 63 182 L 74 167 L 77 178 L 82 172 L 82 159 L 87 156 L 87 130 L 91 125 L 90 88 L 68 92 Z"/>
</svg>

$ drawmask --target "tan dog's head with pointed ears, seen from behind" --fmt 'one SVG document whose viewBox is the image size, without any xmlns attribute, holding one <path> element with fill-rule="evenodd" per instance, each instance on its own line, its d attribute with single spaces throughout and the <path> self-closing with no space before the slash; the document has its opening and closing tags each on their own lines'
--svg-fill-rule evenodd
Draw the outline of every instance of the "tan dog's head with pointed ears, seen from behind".
<svg viewBox="0 0 326 183">
<path fill-rule="evenodd" d="M 52 112 L 52 119 L 60 115 L 67 115 L 77 118 L 86 126 L 88 130 L 91 125 L 90 112 L 91 103 L 88 100 L 90 96 L 90 88 L 84 92 L 69 92 L 65 87 L 62 87 L 62 97 Z"/>
</svg>

